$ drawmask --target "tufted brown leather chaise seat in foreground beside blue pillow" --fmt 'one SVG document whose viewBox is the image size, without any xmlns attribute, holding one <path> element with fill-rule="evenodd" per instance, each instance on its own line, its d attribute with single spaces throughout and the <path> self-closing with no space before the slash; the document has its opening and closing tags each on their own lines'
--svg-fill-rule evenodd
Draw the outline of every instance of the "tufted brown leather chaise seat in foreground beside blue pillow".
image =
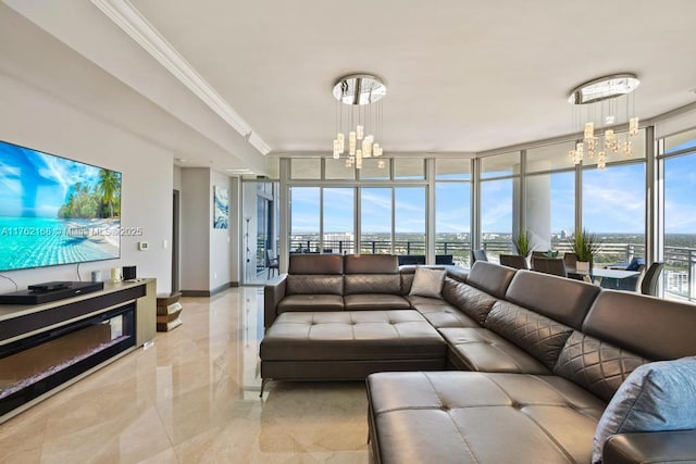
<svg viewBox="0 0 696 464">
<path fill-rule="evenodd" d="M 381 463 L 587 463 L 605 407 L 555 376 L 378 373 L 366 386 Z"/>
</svg>

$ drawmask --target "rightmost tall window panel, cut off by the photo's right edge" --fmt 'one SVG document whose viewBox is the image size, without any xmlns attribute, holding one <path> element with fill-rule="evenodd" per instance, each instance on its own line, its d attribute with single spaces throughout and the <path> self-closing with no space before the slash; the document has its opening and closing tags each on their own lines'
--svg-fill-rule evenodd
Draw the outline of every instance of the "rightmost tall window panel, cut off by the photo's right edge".
<svg viewBox="0 0 696 464">
<path fill-rule="evenodd" d="M 696 301 L 696 129 L 664 139 L 664 296 Z"/>
</svg>

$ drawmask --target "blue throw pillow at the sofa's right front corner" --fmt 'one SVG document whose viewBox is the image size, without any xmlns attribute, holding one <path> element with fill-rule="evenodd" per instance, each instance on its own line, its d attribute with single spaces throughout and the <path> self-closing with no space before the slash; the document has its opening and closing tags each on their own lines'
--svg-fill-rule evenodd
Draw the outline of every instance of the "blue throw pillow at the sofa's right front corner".
<svg viewBox="0 0 696 464">
<path fill-rule="evenodd" d="M 696 428 L 696 356 L 644 364 L 626 377 L 599 418 L 592 462 L 612 435 Z"/>
</svg>

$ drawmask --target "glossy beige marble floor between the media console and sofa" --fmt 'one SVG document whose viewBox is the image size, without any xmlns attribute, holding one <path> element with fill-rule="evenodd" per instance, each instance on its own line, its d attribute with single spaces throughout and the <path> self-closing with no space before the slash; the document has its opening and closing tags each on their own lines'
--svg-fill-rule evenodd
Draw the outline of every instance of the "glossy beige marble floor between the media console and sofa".
<svg viewBox="0 0 696 464">
<path fill-rule="evenodd" d="M 365 463 L 363 383 L 271 383 L 263 289 L 182 300 L 184 324 L 0 425 L 1 463 Z"/>
</svg>

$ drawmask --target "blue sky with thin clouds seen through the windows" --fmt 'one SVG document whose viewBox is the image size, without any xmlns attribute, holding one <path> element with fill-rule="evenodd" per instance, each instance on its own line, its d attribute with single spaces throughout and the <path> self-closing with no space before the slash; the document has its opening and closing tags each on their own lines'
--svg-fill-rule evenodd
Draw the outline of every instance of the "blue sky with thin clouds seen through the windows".
<svg viewBox="0 0 696 464">
<path fill-rule="evenodd" d="M 673 150 L 696 147 L 696 140 Z M 574 228 L 574 172 L 527 177 L 527 222 L 548 222 L 551 233 Z M 534 186 L 533 186 L 534 184 Z M 696 153 L 664 163 L 664 224 L 667 234 L 696 234 Z M 538 188 L 539 193 L 535 193 Z M 293 188 L 293 234 L 319 231 L 316 187 Z M 482 231 L 512 233 L 513 180 L 482 183 Z M 550 190 L 550 196 L 545 193 Z M 353 230 L 355 190 L 324 189 L 324 231 Z M 391 189 L 362 188 L 361 225 L 364 233 L 389 233 Z M 469 233 L 469 184 L 437 183 L 436 233 Z M 396 233 L 425 230 L 425 188 L 395 190 Z M 596 234 L 644 234 L 645 164 L 609 165 L 583 170 L 583 226 Z"/>
</svg>

